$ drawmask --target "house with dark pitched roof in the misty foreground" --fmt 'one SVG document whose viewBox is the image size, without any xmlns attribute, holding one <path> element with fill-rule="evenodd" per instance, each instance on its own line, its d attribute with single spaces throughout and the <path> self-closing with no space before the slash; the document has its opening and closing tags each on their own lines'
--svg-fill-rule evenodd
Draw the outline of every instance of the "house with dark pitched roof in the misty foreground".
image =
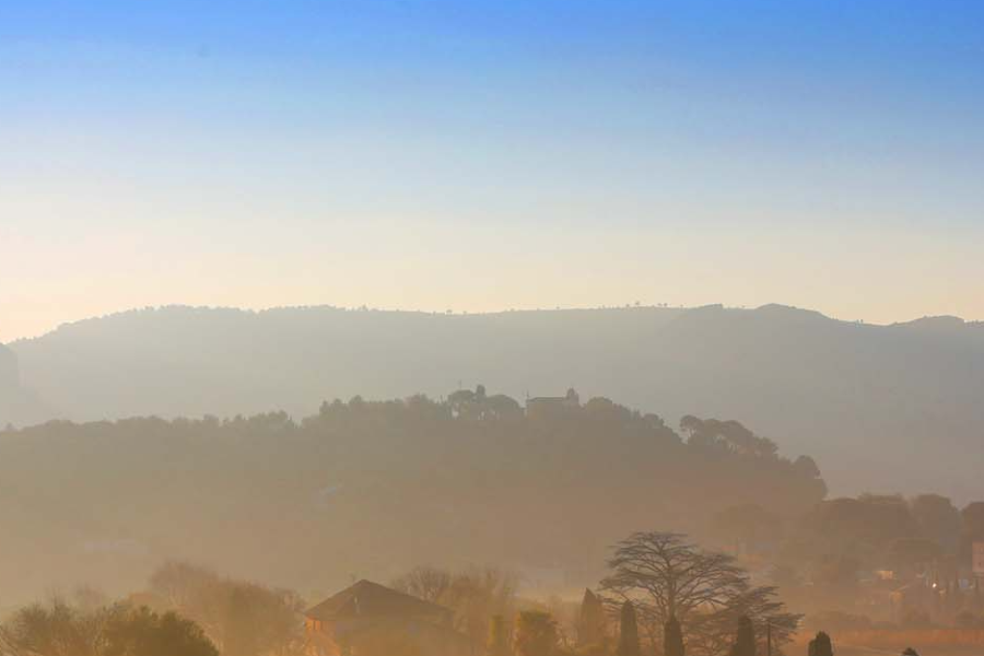
<svg viewBox="0 0 984 656">
<path fill-rule="evenodd" d="M 450 610 L 371 581 L 304 614 L 309 656 L 471 656 Z"/>
</svg>

